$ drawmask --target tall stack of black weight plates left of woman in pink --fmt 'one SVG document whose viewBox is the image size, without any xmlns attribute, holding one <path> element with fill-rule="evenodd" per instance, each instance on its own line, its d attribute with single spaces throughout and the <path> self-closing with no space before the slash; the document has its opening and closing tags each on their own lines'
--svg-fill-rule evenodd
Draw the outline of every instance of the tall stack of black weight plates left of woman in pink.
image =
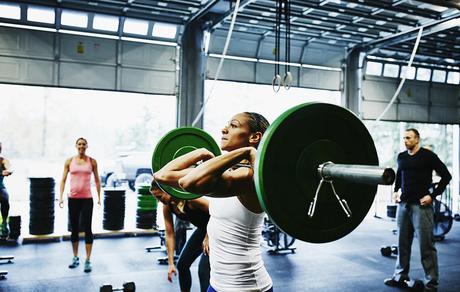
<svg viewBox="0 0 460 292">
<path fill-rule="evenodd" d="M 29 233 L 44 235 L 54 232 L 54 179 L 30 177 Z"/>
</svg>

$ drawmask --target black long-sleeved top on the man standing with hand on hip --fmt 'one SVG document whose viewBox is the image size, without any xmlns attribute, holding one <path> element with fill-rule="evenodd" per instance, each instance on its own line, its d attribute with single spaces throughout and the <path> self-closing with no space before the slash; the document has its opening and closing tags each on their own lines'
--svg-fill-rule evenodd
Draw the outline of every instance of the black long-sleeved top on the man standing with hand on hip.
<svg viewBox="0 0 460 292">
<path fill-rule="evenodd" d="M 430 194 L 433 170 L 441 180 Z M 401 189 L 403 202 L 419 203 L 419 200 L 428 194 L 434 199 L 442 194 L 451 179 L 446 165 L 428 149 L 420 148 L 414 155 L 409 155 L 407 151 L 398 155 L 395 192 Z"/>
</svg>

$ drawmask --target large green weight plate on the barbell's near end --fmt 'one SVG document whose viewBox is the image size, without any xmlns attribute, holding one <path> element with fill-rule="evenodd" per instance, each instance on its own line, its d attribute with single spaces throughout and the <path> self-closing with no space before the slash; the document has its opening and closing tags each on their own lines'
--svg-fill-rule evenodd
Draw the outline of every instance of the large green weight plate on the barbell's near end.
<svg viewBox="0 0 460 292">
<path fill-rule="evenodd" d="M 308 216 L 320 177 L 318 165 L 378 165 L 364 124 L 349 110 L 323 103 L 296 106 L 265 132 L 255 165 L 259 201 L 272 222 L 303 241 L 323 243 L 353 231 L 368 213 L 377 186 L 334 181 L 352 211 L 347 218 L 329 184 L 323 184 L 313 217 Z"/>
</svg>

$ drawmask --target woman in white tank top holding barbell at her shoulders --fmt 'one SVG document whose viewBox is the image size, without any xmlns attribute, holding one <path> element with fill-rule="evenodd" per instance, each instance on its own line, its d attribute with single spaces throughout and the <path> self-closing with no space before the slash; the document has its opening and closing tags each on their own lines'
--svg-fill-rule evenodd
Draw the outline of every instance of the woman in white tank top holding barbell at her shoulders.
<svg viewBox="0 0 460 292">
<path fill-rule="evenodd" d="M 260 114 L 239 113 L 222 129 L 221 149 L 227 153 L 214 157 L 208 150 L 197 149 L 154 175 L 161 184 L 213 197 L 209 202 L 208 292 L 273 291 L 260 250 L 264 212 L 253 181 L 255 148 L 268 126 Z"/>
</svg>

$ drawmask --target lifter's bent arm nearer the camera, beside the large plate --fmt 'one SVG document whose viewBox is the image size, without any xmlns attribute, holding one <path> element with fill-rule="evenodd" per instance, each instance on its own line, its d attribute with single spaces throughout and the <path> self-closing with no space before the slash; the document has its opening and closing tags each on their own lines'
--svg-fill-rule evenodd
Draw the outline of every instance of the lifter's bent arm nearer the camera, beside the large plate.
<svg viewBox="0 0 460 292">
<path fill-rule="evenodd" d="M 253 147 L 243 147 L 207 160 L 179 179 L 179 185 L 186 191 L 211 197 L 255 193 L 252 168 L 227 171 L 244 159 L 252 162 L 254 152 Z"/>
</svg>

